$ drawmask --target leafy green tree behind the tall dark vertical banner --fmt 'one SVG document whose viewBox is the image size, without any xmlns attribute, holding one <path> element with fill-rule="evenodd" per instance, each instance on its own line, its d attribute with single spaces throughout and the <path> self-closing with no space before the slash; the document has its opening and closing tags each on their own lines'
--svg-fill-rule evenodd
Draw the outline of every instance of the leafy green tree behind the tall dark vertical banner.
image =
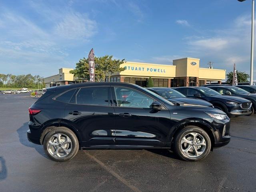
<svg viewBox="0 0 256 192">
<path fill-rule="evenodd" d="M 105 78 L 110 77 L 116 73 L 125 70 L 125 68 L 120 68 L 120 65 L 124 63 L 123 60 L 113 59 L 113 56 L 105 55 L 103 57 L 94 57 L 95 61 L 95 81 L 102 82 L 105 81 Z M 89 80 L 89 65 L 88 59 L 80 59 L 76 63 L 76 68 L 70 71 L 71 74 L 78 77 L 79 79 Z"/>
</svg>

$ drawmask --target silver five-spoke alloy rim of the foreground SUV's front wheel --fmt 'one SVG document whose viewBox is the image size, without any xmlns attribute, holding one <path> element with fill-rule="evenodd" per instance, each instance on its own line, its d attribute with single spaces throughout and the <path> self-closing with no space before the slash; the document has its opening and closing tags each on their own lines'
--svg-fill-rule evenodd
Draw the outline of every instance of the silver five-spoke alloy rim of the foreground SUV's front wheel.
<svg viewBox="0 0 256 192">
<path fill-rule="evenodd" d="M 206 149 L 206 141 L 199 133 L 188 133 L 180 142 L 182 153 L 187 157 L 198 158 Z"/>
</svg>

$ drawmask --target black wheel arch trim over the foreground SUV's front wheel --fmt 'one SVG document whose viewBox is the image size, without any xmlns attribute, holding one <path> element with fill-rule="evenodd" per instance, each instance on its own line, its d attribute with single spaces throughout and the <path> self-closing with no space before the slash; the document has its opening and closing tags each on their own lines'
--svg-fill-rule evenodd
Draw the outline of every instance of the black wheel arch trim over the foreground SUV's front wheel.
<svg viewBox="0 0 256 192">
<path fill-rule="evenodd" d="M 216 128 L 211 126 L 209 122 L 200 118 L 187 118 L 179 121 L 177 124 L 174 124 L 174 126 L 172 126 L 168 136 L 168 141 L 170 141 L 169 145 L 172 143 L 174 135 L 177 134 L 178 130 L 188 125 L 194 125 L 199 127 L 201 125 L 201 128 L 203 128 L 204 130 L 206 130 L 206 132 L 208 132 L 208 134 L 210 134 L 209 136 L 212 142 L 215 143 L 217 141 L 216 134 L 218 134 L 218 131 L 216 130 Z"/>
</svg>

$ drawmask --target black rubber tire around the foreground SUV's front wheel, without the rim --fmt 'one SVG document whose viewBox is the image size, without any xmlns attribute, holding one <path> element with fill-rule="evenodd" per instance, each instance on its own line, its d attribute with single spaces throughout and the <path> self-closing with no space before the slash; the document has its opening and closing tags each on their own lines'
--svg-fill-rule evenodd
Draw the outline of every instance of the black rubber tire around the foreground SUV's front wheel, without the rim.
<svg viewBox="0 0 256 192">
<path fill-rule="evenodd" d="M 186 154 L 184 154 L 184 152 L 182 152 L 182 146 L 181 146 L 182 139 L 184 138 L 184 136 L 186 136 L 187 134 L 190 134 L 190 133 L 198 133 L 205 140 L 206 146 L 204 148 L 204 152 L 202 152 L 202 154 L 200 154 L 200 156 L 198 156 L 198 157 L 190 157 L 190 156 L 187 156 Z M 186 126 L 186 127 L 182 128 L 178 132 L 176 137 L 174 138 L 173 144 L 174 144 L 174 151 L 176 152 L 176 154 L 180 157 L 180 159 L 186 160 L 186 161 L 202 160 L 203 158 L 208 156 L 210 149 L 211 149 L 210 137 L 208 136 L 206 131 L 204 131 L 202 128 L 199 128 L 197 126 Z"/>
</svg>

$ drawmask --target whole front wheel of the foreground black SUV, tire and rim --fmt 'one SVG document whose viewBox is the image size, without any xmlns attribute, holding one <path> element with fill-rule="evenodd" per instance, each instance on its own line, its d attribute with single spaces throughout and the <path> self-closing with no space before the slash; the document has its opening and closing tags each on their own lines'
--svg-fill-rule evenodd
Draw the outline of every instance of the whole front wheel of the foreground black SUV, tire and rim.
<svg viewBox="0 0 256 192">
<path fill-rule="evenodd" d="M 202 128 L 186 126 L 174 138 L 174 149 L 182 160 L 198 161 L 208 156 L 211 140 Z"/>
</svg>

